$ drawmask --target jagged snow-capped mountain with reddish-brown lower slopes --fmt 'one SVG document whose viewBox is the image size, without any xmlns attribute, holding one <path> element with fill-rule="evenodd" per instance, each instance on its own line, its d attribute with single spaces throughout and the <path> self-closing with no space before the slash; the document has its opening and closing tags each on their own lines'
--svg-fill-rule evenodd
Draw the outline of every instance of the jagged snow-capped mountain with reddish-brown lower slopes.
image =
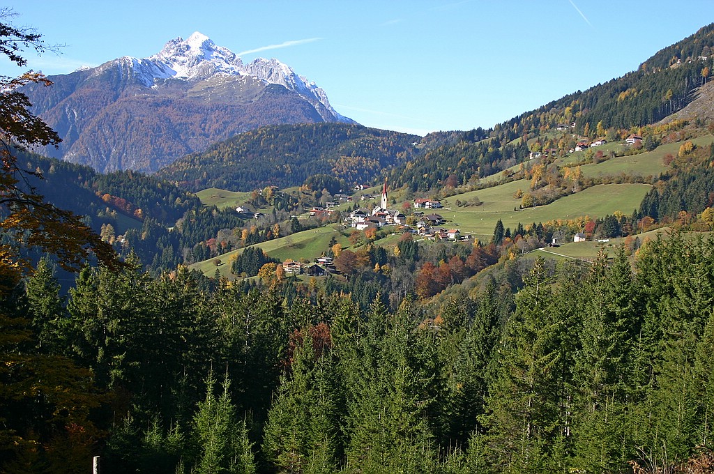
<svg viewBox="0 0 714 474">
<path fill-rule="evenodd" d="M 243 64 L 201 33 L 146 59 L 124 56 L 50 76 L 24 92 L 61 136 L 44 153 L 98 171 L 153 172 L 211 143 L 281 123 L 355 123 L 276 59 Z"/>
</svg>

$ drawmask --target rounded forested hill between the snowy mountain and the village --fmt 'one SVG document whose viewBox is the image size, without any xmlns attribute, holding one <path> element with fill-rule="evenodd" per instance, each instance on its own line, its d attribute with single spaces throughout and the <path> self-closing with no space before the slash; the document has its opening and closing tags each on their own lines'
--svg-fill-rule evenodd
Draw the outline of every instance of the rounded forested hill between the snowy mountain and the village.
<svg viewBox="0 0 714 474">
<path fill-rule="evenodd" d="M 420 137 L 345 123 L 266 126 L 217 143 L 159 171 L 188 189 L 249 191 L 301 186 L 315 174 L 371 182 L 409 161 Z"/>
</svg>

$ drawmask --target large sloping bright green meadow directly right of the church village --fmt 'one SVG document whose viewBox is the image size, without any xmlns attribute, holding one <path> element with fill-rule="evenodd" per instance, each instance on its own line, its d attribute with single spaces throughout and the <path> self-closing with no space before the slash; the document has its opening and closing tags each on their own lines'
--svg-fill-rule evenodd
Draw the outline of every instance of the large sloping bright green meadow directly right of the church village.
<svg viewBox="0 0 714 474">
<path fill-rule="evenodd" d="M 503 221 L 503 226 L 513 229 L 518 226 L 519 222 L 526 226 L 533 222 L 579 216 L 604 217 L 615 211 L 629 214 L 639 208 L 651 186 L 648 184 L 601 184 L 560 198 L 547 206 L 513 211 L 513 208 L 518 208 L 521 203 L 520 199 L 513 198 L 513 193 L 518 188 L 528 189 L 528 182 L 514 181 L 481 191 L 451 196 L 445 201 L 447 208 L 438 210 L 441 211 L 441 216 L 449 221 L 444 227 L 456 227 L 462 233 L 471 233 L 481 241 L 486 241 L 493 235 L 493 228 L 498 219 Z M 481 199 L 483 202 L 481 206 L 458 208 L 453 204 L 456 198 L 463 200 L 472 193 L 473 196 Z"/>
</svg>

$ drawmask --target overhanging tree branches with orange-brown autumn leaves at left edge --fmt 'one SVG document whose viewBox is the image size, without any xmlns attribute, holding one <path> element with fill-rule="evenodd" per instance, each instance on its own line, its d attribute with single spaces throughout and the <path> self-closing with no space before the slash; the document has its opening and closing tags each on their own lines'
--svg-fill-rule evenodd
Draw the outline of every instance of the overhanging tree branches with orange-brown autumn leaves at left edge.
<svg viewBox="0 0 714 474">
<path fill-rule="evenodd" d="M 18 66 L 25 66 L 21 56 L 24 49 L 41 53 L 51 51 L 41 35 L 33 29 L 18 28 L 4 20 L 14 16 L 9 9 L 0 9 L 0 53 Z M 42 119 L 32 114 L 28 97 L 19 89 L 26 84 L 51 86 L 44 74 L 34 71 L 19 77 L 0 76 L 0 229 L 6 241 L 0 244 L 0 273 L 18 276 L 29 269 L 21 257 L 22 248 L 40 248 L 59 258 L 59 265 L 76 270 L 92 255 L 109 268 L 119 268 L 119 261 L 111 246 L 101 241 L 70 211 L 57 208 L 44 200 L 30 186 L 28 178 L 42 178 L 35 171 L 21 168 L 16 150 L 36 146 L 58 146 L 61 138 Z"/>
</svg>

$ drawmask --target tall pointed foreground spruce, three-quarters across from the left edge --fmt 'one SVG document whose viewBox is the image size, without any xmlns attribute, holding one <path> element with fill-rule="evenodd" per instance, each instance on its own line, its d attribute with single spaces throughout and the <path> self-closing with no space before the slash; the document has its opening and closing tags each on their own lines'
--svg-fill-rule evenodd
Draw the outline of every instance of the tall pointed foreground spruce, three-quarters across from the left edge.
<svg viewBox="0 0 714 474">
<path fill-rule="evenodd" d="M 567 425 L 560 409 L 568 380 L 560 350 L 564 325 L 552 311 L 549 279 L 543 259 L 536 259 L 499 344 L 485 417 L 485 455 L 499 469 L 545 473 L 565 462 L 558 450 Z"/>
</svg>

